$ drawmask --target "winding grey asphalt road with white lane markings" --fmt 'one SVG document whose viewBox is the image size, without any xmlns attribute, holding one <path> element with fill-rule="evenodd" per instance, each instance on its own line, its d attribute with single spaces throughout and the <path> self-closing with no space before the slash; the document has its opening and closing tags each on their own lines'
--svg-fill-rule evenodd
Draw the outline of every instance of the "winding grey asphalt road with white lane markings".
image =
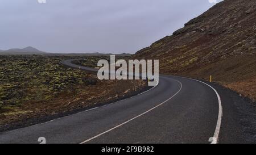
<svg viewBox="0 0 256 155">
<path fill-rule="evenodd" d="M 62 64 L 96 71 L 71 64 L 71 60 Z M 142 94 L 51 122 L 2 132 L 0 143 L 38 143 L 39 137 L 45 137 L 47 143 L 209 144 L 210 137 L 220 139 L 221 119 L 221 98 L 213 87 L 195 79 L 161 75 L 159 84 Z M 236 124 L 224 125 L 225 136 L 218 142 L 234 142 L 233 127 Z"/>
</svg>

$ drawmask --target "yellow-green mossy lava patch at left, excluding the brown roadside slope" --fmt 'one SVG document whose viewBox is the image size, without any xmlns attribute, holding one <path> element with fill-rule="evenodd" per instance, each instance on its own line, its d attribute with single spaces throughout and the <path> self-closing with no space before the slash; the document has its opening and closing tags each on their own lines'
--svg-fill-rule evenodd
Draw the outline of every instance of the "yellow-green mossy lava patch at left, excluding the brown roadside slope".
<svg viewBox="0 0 256 155">
<path fill-rule="evenodd" d="M 58 57 L 0 56 L 0 110 L 27 101 L 48 101 L 75 85 L 96 84 L 80 70 L 63 68 Z"/>
</svg>

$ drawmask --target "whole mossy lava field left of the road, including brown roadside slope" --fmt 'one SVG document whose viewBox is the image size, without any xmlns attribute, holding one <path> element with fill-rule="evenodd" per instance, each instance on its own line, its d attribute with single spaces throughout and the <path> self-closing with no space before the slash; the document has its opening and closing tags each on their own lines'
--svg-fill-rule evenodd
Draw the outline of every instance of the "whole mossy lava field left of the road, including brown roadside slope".
<svg viewBox="0 0 256 155">
<path fill-rule="evenodd" d="M 95 73 L 68 68 L 61 60 L 97 56 L 0 56 L 0 131 L 26 127 L 114 102 L 148 89 L 142 80 L 98 80 Z M 86 64 L 85 64 L 86 63 Z"/>
</svg>

